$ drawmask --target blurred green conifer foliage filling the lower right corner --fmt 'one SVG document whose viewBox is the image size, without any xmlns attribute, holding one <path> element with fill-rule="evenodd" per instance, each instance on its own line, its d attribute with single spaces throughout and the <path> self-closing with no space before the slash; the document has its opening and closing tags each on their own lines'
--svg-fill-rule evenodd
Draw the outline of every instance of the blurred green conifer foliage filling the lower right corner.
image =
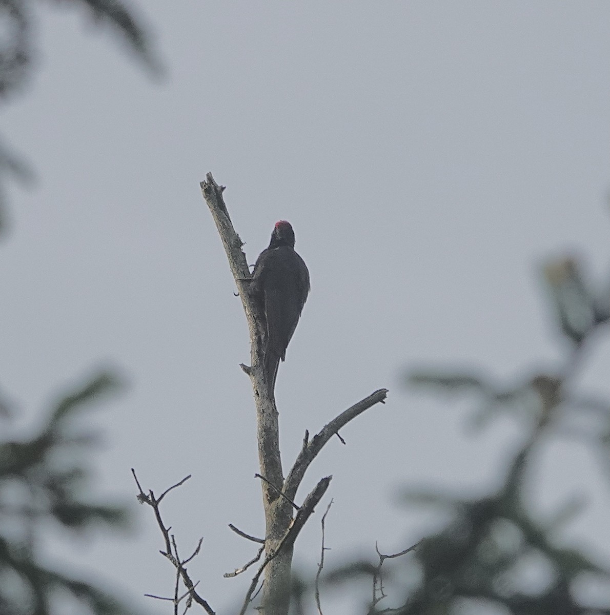
<svg viewBox="0 0 610 615">
<path fill-rule="evenodd" d="M 406 506 L 427 507 L 445 521 L 411 552 L 397 554 L 391 569 L 384 570 L 387 556 L 378 553 L 378 565 L 357 561 L 323 575 L 327 586 L 344 586 L 347 591 L 350 584 L 368 579 L 372 599 L 363 613 L 610 615 L 610 599 L 593 603 L 582 592 L 585 581 L 603 588 L 602 595 L 604 590 L 610 594 L 610 563 L 593 561 L 577 546 L 560 546 L 566 544 L 561 536 L 564 523 L 582 512 L 586 502 L 574 498 L 553 518 L 541 520 L 530 510 L 527 497 L 536 465 L 531 461 L 553 438 L 578 438 L 601 453 L 596 458 L 606 466 L 610 459 L 610 401 L 573 392 L 573 381 L 584 368 L 585 349 L 601 339 L 601 333 L 607 335 L 610 320 L 610 287 L 596 290 L 583 269 L 572 257 L 544 267 L 555 324 L 566 341 L 563 363 L 556 368 L 508 386 L 486 378 L 483 370 L 430 368 L 408 376 L 411 387 L 475 400 L 470 427 L 479 434 L 490 421 L 509 414 L 523 426 L 523 435 L 507 461 L 501 486 L 491 493 L 468 498 L 434 488 L 405 490 Z M 608 547 L 608 528 L 599 531 Z M 302 579 L 299 588 L 303 595 Z M 302 602 L 296 601 L 295 613 L 304 613 Z"/>
</svg>

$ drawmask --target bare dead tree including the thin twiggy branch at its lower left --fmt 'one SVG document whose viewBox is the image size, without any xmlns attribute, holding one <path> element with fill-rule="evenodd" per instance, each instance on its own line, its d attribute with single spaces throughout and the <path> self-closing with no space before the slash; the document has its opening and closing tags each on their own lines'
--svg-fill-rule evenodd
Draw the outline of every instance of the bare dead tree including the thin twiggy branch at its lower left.
<svg viewBox="0 0 610 615">
<path fill-rule="evenodd" d="M 362 414 L 365 410 L 368 410 L 368 408 L 373 407 L 377 403 L 384 403 L 387 389 L 374 391 L 365 399 L 347 408 L 347 410 L 344 410 L 322 427 L 311 439 L 309 438 L 309 432 L 306 431 L 301 451 L 299 451 L 288 474 L 284 476 L 282 459 L 280 458 L 278 412 L 274 396 L 269 394 L 270 391 L 264 374 L 264 315 L 261 314 L 258 302 L 252 299 L 249 292 L 252 276 L 245 254 L 242 251 L 244 243 L 233 228 L 229 212 L 224 204 L 224 186 L 216 184 L 212 173 L 208 173 L 206 181 L 201 183 L 201 189 L 223 242 L 224 250 L 229 260 L 229 268 L 231 268 L 231 273 L 237 284 L 248 322 L 248 330 L 250 331 L 251 365 L 242 364 L 241 367 L 250 376 L 254 393 L 257 423 L 256 437 L 258 439 L 260 467 L 260 473 L 256 474 L 256 477 L 261 480 L 266 525 L 264 538 L 249 536 L 238 530 L 235 526 L 229 525 L 231 530 L 242 536 L 242 538 L 256 542 L 261 546 L 258 547 L 258 554 L 252 560 L 248 561 L 246 565 L 237 568 L 234 572 L 225 574 L 225 576 L 232 577 L 243 573 L 259 561 L 263 557 L 264 552 L 263 561 L 259 564 L 250 587 L 248 587 L 240 615 L 247 611 L 250 603 L 258 595 L 260 589 L 257 591 L 256 588 L 261 577 L 263 577 L 263 595 L 258 610 L 264 613 L 264 615 L 287 615 L 291 598 L 291 565 L 295 540 L 326 493 L 332 477 L 320 478 L 317 485 L 315 485 L 311 493 L 307 494 L 303 502 L 296 504 L 296 495 L 301 481 L 306 474 L 309 464 L 315 459 L 328 440 L 333 435 L 337 435 L 343 442 L 343 438 L 339 435 L 339 430 L 349 421 Z M 195 601 L 208 615 L 213 615 L 212 607 L 197 593 L 197 583 L 192 582 L 191 577 L 189 577 L 186 571 L 186 564 L 199 553 L 201 542 L 199 542 L 199 545 L 190 557 L 184 560 L 181 559 L 178 554 L 175 538 L 173 534 L 169 533 L 169 528 L 162 521 L 159 511 L 159 503 L 165 494 L 174 487 L 180 486 L 188 478 L 186 477 L 180 483 L 170 487 L 159 498 L 156 498 L 152 491 L 148 491 L 148 494 L 145 493 L 138 482 L 140 490 L 138 499 L 154 509 L 157 523 L 164 536 L 165 550 L 162 551 L 162 554 L 168 558 L 176 569 L 174 596 L 171 598 L 154 597 L 173 601 L 176 614 L 178 613 L 178 605 L 181 601 L 186 600 L 187 608 L 192 601 Z M 181 594 L 180 584 L 186 587 L 185 593 Z"/>
</svg>

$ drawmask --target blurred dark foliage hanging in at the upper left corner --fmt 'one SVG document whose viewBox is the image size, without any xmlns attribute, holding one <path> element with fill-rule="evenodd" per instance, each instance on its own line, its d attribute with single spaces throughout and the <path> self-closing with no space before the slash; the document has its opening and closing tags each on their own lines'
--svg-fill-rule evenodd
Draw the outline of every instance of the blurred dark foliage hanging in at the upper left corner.
<svg viewBox="0 0 610 615">
<path fill-rule="evenodd" d="M 161 66 L 151 38 L 133 14 L 133 7 L 119 0 L 54 0 L 60 5 L 84 7 L 95 23 L 108 25 L 127 42 L 134 54 L 153 74 L 160 74 Z M 35 64 L 37 0 L 0 0 L 0 101 L 23 89 Z M 0 231 L 6 227 L 6 191 L 8 178 L 28 183 L 33 173 L 25 162 L 0 141 Z"/>
</svg>

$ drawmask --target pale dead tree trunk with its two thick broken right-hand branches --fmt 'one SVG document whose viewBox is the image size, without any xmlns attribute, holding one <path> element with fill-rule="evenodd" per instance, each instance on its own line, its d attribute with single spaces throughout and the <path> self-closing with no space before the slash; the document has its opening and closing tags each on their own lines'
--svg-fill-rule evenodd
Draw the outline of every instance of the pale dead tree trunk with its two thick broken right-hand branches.
<svg viewBox="0 0 610 615">
<path fill-rule="evenodd" d="M 258 569 L 248 590 L 241 613 L 245 613 L 252 601 L 261 574 L 264 572 L 263 599 L 259 611 L 264 615 L 287 615 L 290 606 L 290 571 L 292 565 L 293 545 L 296 537 L 307 519 L 314 512 L 316 504 L 322 499 L 328 488 L 331 477 L 325 477 L 307 495 L 303 504 L 297 506 L 296 492 L 303 479 L 307 467 L 322 449 L 322 446 L 352 418 L 383 402 L 387 390 L 379 389 L 372 395 L 344 411 L 323 427 L 319 434 L 309 440 L 306 433 L 303 448 L 294 466 L 284 478 L 282 460 L 280 459 L 278 413 L 275 401 L 269 397 L 267 383 L 264 378 L 264 346 L 262 314 L 258 305 L 252 301 L 248 293 L 250 269 L 242 252 L 244 245 L 235 232 L 229 218 L 229 212 L 224 204 L 224 186 L 218 186 L 208 173 L 206 181 L 201 183 L 205 202 L 212 212 L 216 228 L 229 259 L 229 266 L 236 281 L 239 295 L 244 305 L 244 311 L 250 331 L 251 365 L 242 365 L 242 369 L 250 376 L 256 405 L 256 435 L 258 438 L 258 459 L 260 467 L 261 486 L 263 488 L 263 506 L 266 522 L 265 558 Z M 293 511 L 297 510 L 296 515 Z"/>
</svg>

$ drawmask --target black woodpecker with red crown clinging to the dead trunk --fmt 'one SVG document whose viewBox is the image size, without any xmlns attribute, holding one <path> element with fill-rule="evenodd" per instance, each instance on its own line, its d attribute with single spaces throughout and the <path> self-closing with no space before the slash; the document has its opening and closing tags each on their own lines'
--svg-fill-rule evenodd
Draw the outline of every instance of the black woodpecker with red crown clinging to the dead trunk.
<svg viewBox="0 0 610 615">
<path fill-rule="evenodd" d="M 275 378 L 280 360 L 286 360 L 309 295 L 309 271 L 295 252 L 295 231 L 285 220 L 275 223 L 269 247 L 260 253 L 250 280 L 250 292 L 264 314 L 264 371 L 269 397 L 275 399 Z"/>
</svg>

